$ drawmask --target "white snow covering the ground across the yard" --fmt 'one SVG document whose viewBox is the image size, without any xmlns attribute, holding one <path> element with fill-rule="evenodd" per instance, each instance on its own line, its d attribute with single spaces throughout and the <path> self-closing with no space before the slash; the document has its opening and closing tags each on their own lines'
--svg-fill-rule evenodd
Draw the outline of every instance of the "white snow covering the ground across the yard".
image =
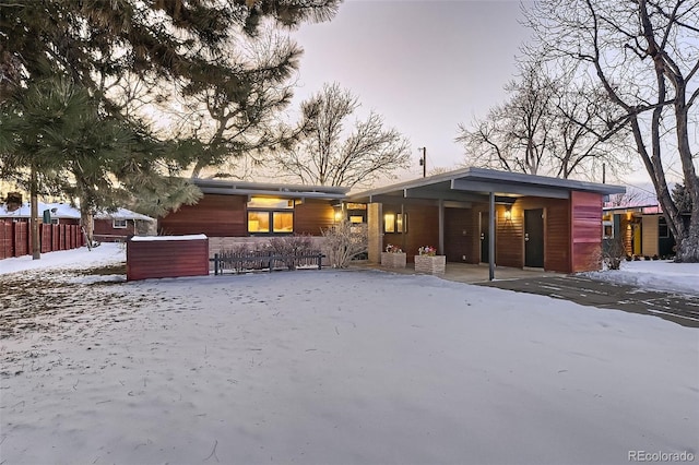
<svg viewBox="0 0 699 465">
<path fill-rule="evenodd" d="M 82 271 L 122 260 L 103 245 L 0 261 L 0 463 L 699 456 L 695 329 L 375 271 Z"/>
</svg>

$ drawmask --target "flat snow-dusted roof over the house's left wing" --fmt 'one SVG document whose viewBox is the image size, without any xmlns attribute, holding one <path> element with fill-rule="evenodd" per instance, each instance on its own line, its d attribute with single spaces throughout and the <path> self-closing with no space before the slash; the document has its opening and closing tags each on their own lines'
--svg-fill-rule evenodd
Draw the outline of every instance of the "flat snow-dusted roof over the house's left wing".
<svg viewBox="0 0 699 465">
<path fill-rule="evenodd" d="M 201 178 L 193 178 L 190 181 L 205 194 L 344 200 L 350 192 L 350 188 L 334 186 L 280 184 Z"/>
</svg>

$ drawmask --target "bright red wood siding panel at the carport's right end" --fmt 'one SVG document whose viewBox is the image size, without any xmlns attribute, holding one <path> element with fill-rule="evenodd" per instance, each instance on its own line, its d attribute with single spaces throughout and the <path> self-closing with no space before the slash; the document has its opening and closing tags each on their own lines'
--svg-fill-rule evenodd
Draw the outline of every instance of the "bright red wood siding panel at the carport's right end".
<svg viewBox="0 0 699 465">
<path fill-rule="evenodd" d="M 602 195 L 571 192 L 570 200 L 571 272 L 600 270 Z"/>
</svg>

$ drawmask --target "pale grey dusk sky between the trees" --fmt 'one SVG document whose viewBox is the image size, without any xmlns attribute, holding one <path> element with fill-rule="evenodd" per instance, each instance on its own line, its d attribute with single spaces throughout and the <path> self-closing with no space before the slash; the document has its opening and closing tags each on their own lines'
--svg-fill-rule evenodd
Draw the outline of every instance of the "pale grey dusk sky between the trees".
<svg viewBox="0 0 699 465">
<path fill-rule="evenodd" d="M 346 0 L 331 22 L 293 33 L 305 50 L 294 107 L 337 82 L 410 139 L 413 168 L 402 179 L 422 176 L 423 146 L 428 171 L 461 167 L 458 124 L 503 102 L 530 37 L 522 19 L 519 1 Z M 617 182 L 644 179 L 640 168 Z"/>
</svg>

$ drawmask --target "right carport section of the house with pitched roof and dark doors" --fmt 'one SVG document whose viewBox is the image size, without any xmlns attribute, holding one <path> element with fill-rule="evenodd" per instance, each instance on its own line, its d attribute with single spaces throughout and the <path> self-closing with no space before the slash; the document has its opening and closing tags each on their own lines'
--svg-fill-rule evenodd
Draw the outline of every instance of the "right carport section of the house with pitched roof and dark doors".
<svg viewBox="0 0 699 465">
<path fill-rule="evenodd" d="M 572 273 L 599 270 L 602 205 L 620 186 L 464 168 L 353 193 L 367 204 L 369 261 L 387 245 L 448 262 Z"/>
</svg>

